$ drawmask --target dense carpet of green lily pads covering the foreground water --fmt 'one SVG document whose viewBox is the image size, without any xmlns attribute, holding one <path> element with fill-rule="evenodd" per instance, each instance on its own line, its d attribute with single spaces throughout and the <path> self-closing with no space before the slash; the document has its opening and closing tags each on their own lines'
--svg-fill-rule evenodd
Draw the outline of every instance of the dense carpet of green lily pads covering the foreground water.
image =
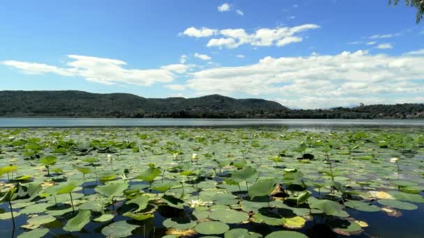
<svg viewBox="0 0 424 238">
<path fill-rule="evenodd" d="M 419 130 L 2 129 L 0 225 L 31 238 L 308 237 L 308 223 L 357 235 L 368 222 L 352 212 L 424 203 L 423 154 Z"/>
</svg>

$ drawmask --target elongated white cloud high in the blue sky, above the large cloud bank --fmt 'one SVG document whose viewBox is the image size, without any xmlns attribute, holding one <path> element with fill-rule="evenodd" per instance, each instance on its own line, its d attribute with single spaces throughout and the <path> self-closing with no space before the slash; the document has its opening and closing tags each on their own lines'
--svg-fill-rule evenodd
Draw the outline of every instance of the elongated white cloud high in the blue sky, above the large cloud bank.
<svg viewBox="0 0 424 238">
<path fill-rule="evenodd" d="M 294 27 L 278 27 L 275 29 L 262 28 L 254 33 L 246 33 L 244 29 L 207 29 L 207 33 L 201 33 L 199 29 L 190 27 L 184 31 L 185 35 L 193 37 L 206 37 L 211 35 L 220 35 L 221 38 L 212 38 L 206 46 L 208 47 L 227 47 L 236 48 L 240 45 L 252 46 L 278 46 L 282 47 L 291 43 L 301 42 L 303 38 L 296 34 L 310 29 L 319 28 L 316 24 L 303 24 Z M 203 29 L 206 31 L 206 29 Z"/>
</svg>

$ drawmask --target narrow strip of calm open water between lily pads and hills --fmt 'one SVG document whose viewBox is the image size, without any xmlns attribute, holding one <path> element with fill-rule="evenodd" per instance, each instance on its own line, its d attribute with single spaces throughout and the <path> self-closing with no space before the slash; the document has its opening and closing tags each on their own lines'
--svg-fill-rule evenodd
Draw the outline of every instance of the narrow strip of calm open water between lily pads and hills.
<svg viewBox="0 0 424 238">
<path fill-rule="evenodd" d="M 0 118 L 0 127 L 424 127 L 424 120 Z"/>
</svg>

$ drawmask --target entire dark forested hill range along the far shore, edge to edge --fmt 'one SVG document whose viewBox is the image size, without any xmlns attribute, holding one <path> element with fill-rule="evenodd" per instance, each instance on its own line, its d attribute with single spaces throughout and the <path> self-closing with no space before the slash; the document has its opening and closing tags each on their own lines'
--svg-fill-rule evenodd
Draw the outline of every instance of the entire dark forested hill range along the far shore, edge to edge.
<svg viewBox="0 0 424 238">
<path fill-rule="evenodd" d="M 145 98 L 128 93 L 0 91 L 0 116 L 75 118 L 424 118 L 424 104 L 292 110 L 278 102 L 222 95 Z"/>
</svg>

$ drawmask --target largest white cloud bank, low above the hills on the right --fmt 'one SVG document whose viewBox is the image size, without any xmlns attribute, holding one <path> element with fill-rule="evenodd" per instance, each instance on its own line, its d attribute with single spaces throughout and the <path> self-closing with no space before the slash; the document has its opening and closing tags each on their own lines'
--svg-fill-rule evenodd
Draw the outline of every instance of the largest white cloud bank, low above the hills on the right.
<svg viewBox="0 0 424 238">
<path fill-rule="evenodd" d="M 395 102 L 422 95 L 417 89 L 424 79 L 422 65 L 424 56 L 372 55 L 368 51 L 268 56 L 252 65 L 192 72 L 185 86 L 197 95 L 243 94 L 269 99 L 284 95 L 277 97 L 280 102 L 301 108 Z"/>
</svg>

